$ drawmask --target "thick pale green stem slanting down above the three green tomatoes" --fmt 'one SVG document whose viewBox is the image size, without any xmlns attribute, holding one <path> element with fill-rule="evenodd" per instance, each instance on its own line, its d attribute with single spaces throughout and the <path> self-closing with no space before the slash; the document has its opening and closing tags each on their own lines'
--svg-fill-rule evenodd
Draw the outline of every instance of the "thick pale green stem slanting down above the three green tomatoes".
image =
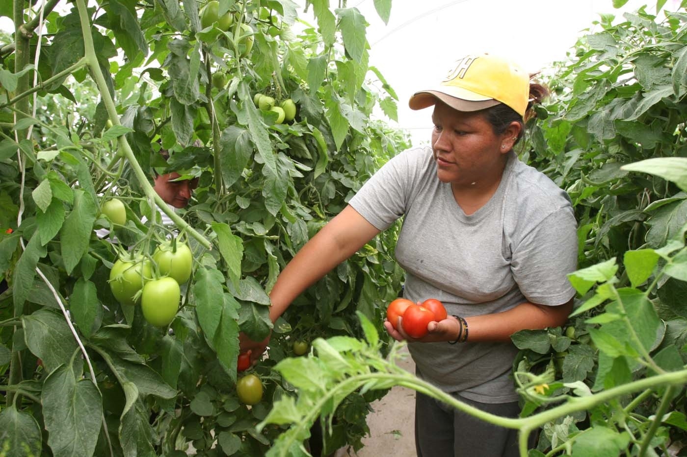
<svg viewBox="0 0 687 457">
<path fill-rule="evenodd" d="M 78 8 L 79 19 L 81 21 L 81 32 L 84 38 L 85 59 L 87 60 L 87 65 L 89 66 L 89 69 L 91 69 L 91 75 L 93 75 L 93 80 L 95 80 L 95 84 L 97 84 L 98 89 L 100 90 L 102 102 L 105 105 L 105 108 L 107 110 L 110 120 L 112 121 L 112 124 L 115 126 L 120 126 L 122 124 L 120 123 L 120 117 L 117 114 L 115 102 L 113 101 L 110 95 L 109 88 L 105 81 L 104 75 L 102 74 L 102 70 L 100 69 L 100 64 L 98 63 L 98 57 L 95 54 L 93 36 L 91 35 L 91 23 L 89 22 L 85 1 L 76 0 L 76 6 Z M 128 160 L 128 162 L 131 164 L 131 169 L 133 169 L 134 174 L 138 178 L 139 183 L 143 188 L 144 193 L 146 194 L 146 197 L 148 197 L 150 200 L 155 201 L 157 207 L 159 207 L 159 209 L 163 213 L 168 215 L 169 218 L 172 221 L 174 221 L 174 224 L 177 224 L 177 227 L 179 227 L 179 229 L 186 229 L 188 233 L 190 233 L 190 235 L 194 237 L 201 245 L 203 245 L 207 249 L 212 249 L 212 244 L 210 244 L 210 241 L 208 241 L 205 237 L 203 237 L 203 235 L 201 235 L 195 229 L 189 226 L 188 223 L 185 220 L 183 220 L 177 213 L 174 213 L 174 211 L 170 209 L 169 205 L 166 204 L 166 202 L 164 202 L 164 200 L 162 200 L 159 195 L 157 195 L 155 189 L 153 189 L 150 183 L 148 183 L 148 178 L 146 177 L 145 172 L 141 168 L 141 165 L 139 165 L 138 161 L 136 160 L 136 157 L 133 154 L 133 150 L 131 150 L 131 145 L 129 145 L 128 141 L 126 141 L 126 137 L 124 135 L 121 135 L 117 138 L 117 141 L 120 144 L 120 152 L 124 153 L 126 160 Z"/>
</svg>

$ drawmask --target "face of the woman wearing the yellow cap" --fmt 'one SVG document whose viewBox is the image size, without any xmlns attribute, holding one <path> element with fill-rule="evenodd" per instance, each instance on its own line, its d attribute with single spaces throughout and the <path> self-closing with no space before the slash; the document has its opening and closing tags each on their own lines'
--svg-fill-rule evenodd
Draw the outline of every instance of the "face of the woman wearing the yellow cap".
<svg viewBox="0 0 687 457">
<path fill-rule="evenodd" d="M 462 187 L 500 180 L 505 154 L 520 132 L 517 122 L 497 135 L 481 111 L 457 111 L 443 103 L 434 106 L 432 121 L 431 146 L 442 183 Z"/>
</svg>

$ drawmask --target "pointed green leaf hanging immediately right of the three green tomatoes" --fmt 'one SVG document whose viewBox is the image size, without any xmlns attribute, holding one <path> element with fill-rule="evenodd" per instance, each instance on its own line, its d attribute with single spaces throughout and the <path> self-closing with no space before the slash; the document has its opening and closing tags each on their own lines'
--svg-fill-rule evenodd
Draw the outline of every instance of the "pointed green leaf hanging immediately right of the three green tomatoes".
<svg viewBox="0 0 687 457">
<path fill-rule="evenodd" d="M 218 297 L 224 294 L 224 277 L 218 270 L 198 268 L 195 279 L 193 294 L 196 298 L 196 316 L 205 332 L 205 339 L 212 344 L 222 317 L 223 302 Z"/>
</svg>

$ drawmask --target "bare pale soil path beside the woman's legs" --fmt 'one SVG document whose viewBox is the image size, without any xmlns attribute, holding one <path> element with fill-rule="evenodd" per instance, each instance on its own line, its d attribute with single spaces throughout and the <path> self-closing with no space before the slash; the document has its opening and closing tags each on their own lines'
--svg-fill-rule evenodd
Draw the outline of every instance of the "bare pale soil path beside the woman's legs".
<svg viewBox="0 0 687 457">
<path fill-rule="evenodd" d="M 398 366 L 415 373 L 415 364 L 407 353 Z M 353 449 L 340 449 L 336 457 L 415 457 L 414 411 L 415 390 L 394 387 L 383 398 L 371 403 L 374 412 L 368 414 L 370 436 L 356 454 Z"/>
</svg>

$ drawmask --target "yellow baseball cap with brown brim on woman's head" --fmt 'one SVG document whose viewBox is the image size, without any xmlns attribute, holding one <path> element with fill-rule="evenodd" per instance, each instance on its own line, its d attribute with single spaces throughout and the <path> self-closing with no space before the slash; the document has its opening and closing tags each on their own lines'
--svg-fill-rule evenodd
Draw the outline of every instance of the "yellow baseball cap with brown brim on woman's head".
<svg viewBox="0 0 687 457">
<path fill-rule="evenodd" d="M 503 103 L 524 116 L 529 98 L 530 75 L 522 67 L 491 54 L 476 54 L 456 60 L 437 87 L 414 93 L 408 105 L 421 110 L 439 99 L 458 111 L 476 111 Z"/>
</svg>

